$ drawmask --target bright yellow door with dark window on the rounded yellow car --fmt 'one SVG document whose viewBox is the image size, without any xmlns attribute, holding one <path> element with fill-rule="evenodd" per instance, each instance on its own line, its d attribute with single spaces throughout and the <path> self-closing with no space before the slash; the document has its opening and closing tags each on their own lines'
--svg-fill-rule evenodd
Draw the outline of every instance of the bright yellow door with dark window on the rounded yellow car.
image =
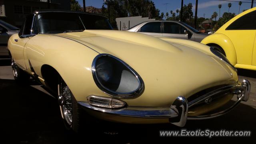
<svg viewBox="0 0 256 144">
<path fill-rule="evenodd" d="M 256 11 L 241 16 L 230 24 L 224 34 L 230 38 L 235 50 L 237 63 L 252 65 L 252 55 L 256 35 Z M 255 56 L 254 56 L 255 57 Z M 254 59 L 255 61 L 255 59 Z"/>
</svg>

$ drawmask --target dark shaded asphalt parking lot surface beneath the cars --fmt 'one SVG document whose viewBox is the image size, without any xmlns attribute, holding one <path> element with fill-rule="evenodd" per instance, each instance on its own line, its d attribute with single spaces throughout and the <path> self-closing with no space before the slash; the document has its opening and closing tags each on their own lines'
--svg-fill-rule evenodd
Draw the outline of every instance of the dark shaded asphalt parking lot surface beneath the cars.
<svg viewBox="0 0 256 144">
<path fill-rule="evenodd" d="M 159 130 L 180 130 L 172 124 L 117 124 L 109 127 L 118 127 L 112 130 L 100 131 L 101 127 L 88 124 L 85 128 L 99 130 L 90 135 L 77 136 L 67 131 L 62 123 L 57 100 L 45 91 L 38 83 L 31 81 L 30 85 L 20 85 L 14 81 L 9 60 L 0 61 L 0 90 L 2 112 L 2 142 L 1 143 L 32 143 L 32 144 L 60 144 L 60 143 L 86 143 L 110 142 L 110 143 L 170 143 L 175 138 L 161 138 Z M 239 79 L 248 79 L 251 82 L 250 99 L 240 103 L 234 110 L 209 120 L 189 120 L 184 128 L 188 130 L 251 130 L 250 138 L 184 138 L 185 140 L 200 140 L 207 143 L 216 143 L 224 140 L 237 142 L 239 140 L 255 140 L 256 136 L 256 75 L 254 71 L 238 70 Z M 234 98 L 236 100 L 236 98 Z M 112 133 L 118 134 L 112 134 Z M 180 140 L 180 139 L 178 139 Z M 183 139 L 182 139 L 183 140 Z"/>
</svg>

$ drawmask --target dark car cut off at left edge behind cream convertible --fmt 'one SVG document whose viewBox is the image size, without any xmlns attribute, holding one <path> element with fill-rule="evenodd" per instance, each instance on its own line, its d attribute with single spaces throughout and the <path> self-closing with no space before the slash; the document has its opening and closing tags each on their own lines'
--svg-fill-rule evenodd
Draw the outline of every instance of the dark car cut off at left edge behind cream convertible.
<svg viewBox="0 0 256 144">
<path fill-rule="evenodd" d="M 16 26 L 0 20 L 0 44 L 7 44 L 9 37 L 17 34 L 19 31 L 20 29 Z"/>
</svg>

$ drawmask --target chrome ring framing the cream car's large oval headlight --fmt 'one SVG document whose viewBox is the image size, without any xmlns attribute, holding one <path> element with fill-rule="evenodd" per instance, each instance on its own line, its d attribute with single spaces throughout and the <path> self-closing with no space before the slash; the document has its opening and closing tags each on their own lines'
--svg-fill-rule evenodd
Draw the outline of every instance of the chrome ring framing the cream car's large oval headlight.
<svg viewBox="0 0 256 144">
<path fill-rule="evenodd" d="M 118 92 L 112 91 L 112 90 L 104 87 L 103 85 L 101 85 L 101 83 L 99 82 L 98 76 L 96 74 L 96 62 L 100 57 L 104 57 L 104 56 L 112 57 L 112 58 L 116 59 L 117 61 L 121 62 L 124 66 L 126 66 L 132 72 L 134 77 L 136 77 L 136 79 L 139 83 L 138 88 L 134 91 L 129 92 L 129 93 L 118 93 Z M 100 88 L 104 93 L 106 93 L 107 95 L 110 95 L 112 97 L 118 97 L 118 98 L 138 97 L 144 92 L 144 89 L 145 89 L 144 82 L 143 82 L 142 78 L 140 77 L 140 75 L 134 69 L 132 69 L 132 67 L 130 67 L 127 63 L 125 63 L 121 59 L 119 59 L 119 58 L 117 58 L 113 55 L 106 54 L 106 53 L 102 53 L 102 54 L 97 55 L 94 58 L 94 60 L 92 61 L 92 76 L 93 76 L 94 82 L 96 83 L 98 88 Z"/>
</svg>

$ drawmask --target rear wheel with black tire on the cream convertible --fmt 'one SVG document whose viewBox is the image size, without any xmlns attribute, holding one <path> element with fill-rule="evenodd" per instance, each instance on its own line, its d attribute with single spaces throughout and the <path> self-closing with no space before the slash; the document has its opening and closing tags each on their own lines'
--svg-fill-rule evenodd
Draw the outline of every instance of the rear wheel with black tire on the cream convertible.
<svg viewBox="0 0 256 144">
<path fill-rule="evenodd" d="M 16 62 L 13 59 L 11 65 L 14 79 L 19 83 L 28 83 L 30 75 L 28 75 L 25 71 L 20 69 L 20 67 L 17 66 Z"/>
</svg>

